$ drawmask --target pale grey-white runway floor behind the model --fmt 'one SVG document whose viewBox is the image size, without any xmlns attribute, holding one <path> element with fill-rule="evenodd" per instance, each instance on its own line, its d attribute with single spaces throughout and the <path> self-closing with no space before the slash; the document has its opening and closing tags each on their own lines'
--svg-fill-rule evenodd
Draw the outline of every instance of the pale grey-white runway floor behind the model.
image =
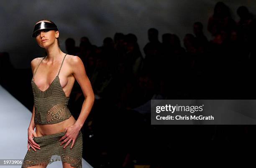
<svg viewBox="0 0 256 168">
<path fill-rule="evenodd" d="M 24 159 L 27 148 L 27 129 L 32 113 L 0 85 L 0 160 Z M 10 167 L 10 166 L 3 166 Z M 21 167 L 15 165 L 14 167 Z M 61 161 L 55 161 L 47 168 L 61 168 Z M 82 159 L 83 168 L 92 168 Z"/>
</svg>

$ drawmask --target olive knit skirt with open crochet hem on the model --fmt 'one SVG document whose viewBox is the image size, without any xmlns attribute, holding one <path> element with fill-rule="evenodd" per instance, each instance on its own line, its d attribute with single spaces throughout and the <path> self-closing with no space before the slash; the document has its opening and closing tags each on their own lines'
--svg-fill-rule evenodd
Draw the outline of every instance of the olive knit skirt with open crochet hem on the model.
<svg viewBox="0 0 256 168">
<path fill-rule="evenodd" d="M 59 139 L 65 135 L 65 133 L 66 132 L 60 132 L 34 137 L 34 141 L 40 145 L 40 150 L 36 149 L 36 151 L 34 151 L 30 148 L 25 155 L 21 168 L 27 168 L 31 165 L 47 166 L 48 164 L 58 160 L 70 163 L 74 168 L 82 168 L 82 132 L 81 130 L 79 131 L 72 149 L 70 149 L 72 141 L 66 148 L 63 147 L 67 142 L 60 145 L 63 140 L 59 142 Z"/>
</svg>

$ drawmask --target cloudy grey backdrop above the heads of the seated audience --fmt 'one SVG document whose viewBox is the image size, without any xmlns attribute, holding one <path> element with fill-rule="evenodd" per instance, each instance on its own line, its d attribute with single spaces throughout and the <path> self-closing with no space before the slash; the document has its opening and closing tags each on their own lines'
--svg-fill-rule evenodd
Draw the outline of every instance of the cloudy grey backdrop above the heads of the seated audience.
<svg viewBox="0 0 256 168">
<path fill-rule="evenodd" d="M 204 24 L 213 13 L 218 0 L 1 0 L 0 1 L 0 51 L 10 53 L 15 68 L 29 68 L 33 58 L 41 57 L 44 50 L 31 38 L 37 20 L 53 20 L 60 31 L 61 49 L 66 52 L 64 41 L 72 37 L 87 36 L 92 44 L 102 45 L 105 37 L 116 32 L 134 33 L 140 48 L 147 43 L 147 30 L 176 33 L 181 41 L 192 33 L 196 21 Z M 246 5 L 256 10 L 255 0 L 223 0 L 237 21 L 236 9 Z"/>
</svg>

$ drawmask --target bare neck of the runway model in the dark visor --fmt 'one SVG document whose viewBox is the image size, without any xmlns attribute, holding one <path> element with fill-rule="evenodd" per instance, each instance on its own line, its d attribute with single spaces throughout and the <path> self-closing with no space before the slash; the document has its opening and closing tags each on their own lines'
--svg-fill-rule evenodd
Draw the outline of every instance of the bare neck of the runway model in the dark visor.
<svg viewBox="0 0 256 168">
<path fill-rule="evenodd" d="M 56 60 L 59 60 L 64 53 L 61 51 L 57 43 L 54 43 L 54 45 L 49 46 L 48 48 L 45 48 L 47 57 L 45 58 L 49 62 L 55 62 Z"/>
</svg>

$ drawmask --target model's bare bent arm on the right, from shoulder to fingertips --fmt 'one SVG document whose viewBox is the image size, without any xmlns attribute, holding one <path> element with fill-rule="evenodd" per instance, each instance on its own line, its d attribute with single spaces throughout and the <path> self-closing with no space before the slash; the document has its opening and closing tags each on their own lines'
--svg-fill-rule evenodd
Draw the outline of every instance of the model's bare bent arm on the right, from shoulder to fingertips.
<svg viewBox="0 0 256 168">
<path fill-rule="evenodd" d="M 61 140 L 65 139 L 61 143 L 61 145 L 68 141 L 64 145 L 64 148 L 66 148 L 67 145 L 69 145 L 71 140 L 72 140 L 72 145 L 70 148 L 73 147 L 75 139 L 77 138 L 77 135 L 78 135 L 80 129 L 84 125 L 84 121 L 88 117 L 88 115 L 92 109 L 92 105 L 94 103 L 94 93 L 92 90 L 92 85 L 90 83 L 88 76 L 86 75 L 84 64 L 83 64 L 82 60 L 78 56 L 73 56 L 71 58 L 70 65 L 72 67 L 72 74 L 74 75 L 77 82 L 79 83 L 79 85 L 82 89 L 82 92 L 84 94 L 85 100 L 84 100 L 84 103 L 82 104 L 82 109 L 79 114 L 79 117 L 77 118 L 77 121 L 74 123 L 74 125 L 71 125 L 71 126 L 65 128 L 65 130 L 67 130 L 67 133 L 59 140 L 59 141 L 61 141 Z"/>
</svg>

